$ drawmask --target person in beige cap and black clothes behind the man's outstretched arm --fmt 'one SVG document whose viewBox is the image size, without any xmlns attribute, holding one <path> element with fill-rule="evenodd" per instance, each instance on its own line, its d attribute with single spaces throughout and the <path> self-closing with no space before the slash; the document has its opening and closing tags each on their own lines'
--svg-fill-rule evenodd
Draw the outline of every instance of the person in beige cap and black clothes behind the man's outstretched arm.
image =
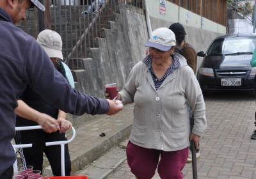
<svg viewBox="0 0 256 179">
<path fill-rule="evenodd" d="M 66 77 L 62 55 L 62 40 L 61 36 L 55 31 L 46 29 L 39 33 L 36 40 L 43 47 L 51 59 L 54 67 L 64 77 Z M 45 59 L 49 60 L 49 59 Z M 19 106 L 16 108 L 16 127 L 38 125 L 33 118 L 40 118 L 42 114 L 49 115 L 58 121 L 60 131 L 48 134 L 43 130 L 24 130 L 17 131 L 14 137 L 16 144 L 30 144 L 31 148 L 19 148 L 20 159 L 23 166 L 33 166 L 34 170 L 43 169 L 43 155 L 45 153 L 51 164 L 52 174 L 61 176 L 61 155 L 60 145 L 45 146 L 45 143 L 52 141 L 67 141 L 65 132 L 72 128 L 72 123 L 66 120 L 67 114 L 61 111 L 50 102 L 47 102 L 38 93 L 33 91 L 30 86 L 27 86 L 24 93 L 18 100 Z M 71 172 L 71 161 L 68 152 L 68 144 L 65 144 L 65 175 L 69 176 Z"/>
</svg>

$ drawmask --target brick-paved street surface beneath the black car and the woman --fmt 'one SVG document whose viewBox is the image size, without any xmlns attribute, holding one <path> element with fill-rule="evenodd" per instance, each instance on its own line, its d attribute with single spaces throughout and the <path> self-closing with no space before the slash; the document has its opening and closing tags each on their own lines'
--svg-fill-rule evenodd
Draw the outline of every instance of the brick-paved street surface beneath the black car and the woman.
<svg viewBox="0 0 256 179">
<path fill-rule="evenodd" d="M 205 97 L 207 130 L 200 141 L 198 178 L 256 178 L 255 97 L 251 92 L 210 93 Z M 184 178 L 193 178 L 186 164 Z M 108 179 L 132 178 L 127 160 Z M 153 179 L 159 179 L 156 173 Z"/>
</svg>

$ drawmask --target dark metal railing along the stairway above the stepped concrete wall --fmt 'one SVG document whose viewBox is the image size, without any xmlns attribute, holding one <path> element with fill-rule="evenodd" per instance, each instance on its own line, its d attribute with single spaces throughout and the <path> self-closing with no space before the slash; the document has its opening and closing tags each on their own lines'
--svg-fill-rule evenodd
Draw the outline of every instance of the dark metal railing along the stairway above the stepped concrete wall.
<svg viewBox="0 0 256 179">
<path fill-rule="evenodd" d="M 89 1 L 83 1 L 82 4 L 82 1 L 77 4 L 77 0 L 53 0 L 52 4 L 51 1 L 46 1 L 45 8 L 47 11 L 44 13 L 44 18 L 39 20 L 37 18 L 39 15 L 36 15 L 36 12 L 40 14 L 40 11 L 36 8 L 30 8 L 26 20 L 20 21 L 17 27 L 24 29 L 26 33 L 35 38 L 39 32 L 38 30 L 35 31 L 37 27 L 40 28 L 40 31 L 41 29 L 52 29 L 59 33 L 63 40 L 63 59 L 65 63 L 72 70 L 79 70 L 79 68 L 83 68 L 79 66 L 79 59 L 92 57 L 88 54 L 90 52 L 88 49 L 99 45 L 95 38 L 103 36 L 102 29 L 107 28 L 105 24 L 111 20 L 110 17 L 115 18 L 115 13 L 118 13 L 118 4 L 124 2 L 129 6 L 144 8 L 143 1 L 105 0 L 105 3 L 99 7 L 99 12 L 95 15 L 87 15 L 87 17 L 81 15 L 81 12 L 89 7 Z M 99 3 L 96 5 L 98 6 Z M 35 28 L 28 28 L 27 23 L 33 24 Z"/>
</svg>

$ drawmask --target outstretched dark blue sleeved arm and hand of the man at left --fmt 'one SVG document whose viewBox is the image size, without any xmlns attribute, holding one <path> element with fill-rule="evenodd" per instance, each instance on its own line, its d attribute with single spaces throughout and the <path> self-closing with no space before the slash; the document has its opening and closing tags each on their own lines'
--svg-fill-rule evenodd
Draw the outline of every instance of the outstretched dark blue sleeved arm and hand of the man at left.
<svg viewBox="0 0 256 179">
<path fill-rule="evenodd" d="M 115 102 L 95 98 L 72 89 L 35 40 L 31 40 L 31 45 L 26 51 L 23 68 L 22 79 L 28 82 L 36 93 L 65 113 L 111 115 L 122 110 L 122 107 L 117 106 Z"/>
</svg>

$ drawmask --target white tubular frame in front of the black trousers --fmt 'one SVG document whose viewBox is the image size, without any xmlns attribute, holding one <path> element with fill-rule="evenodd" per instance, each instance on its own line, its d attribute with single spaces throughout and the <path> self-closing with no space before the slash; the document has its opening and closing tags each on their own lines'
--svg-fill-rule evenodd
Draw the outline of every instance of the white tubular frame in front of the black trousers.
<svg viewBox="0 0 256 179">
<path fill-rule="evenodd" d="M 33 129 L 42 129 L 40 125 L 34 125 L 34 126 L 26 126 L 26 127 L 15 127 L 15 130 L 33 130 Z M 52 146 L 52 145 L 60 145 L 61 146 L 61 176 L 65 176 L 65 150 L 64 145 L 67 143 L 70 143 L 73 141 L 73 139 L 76 137 L 76 130 L 74 127 L 72 127 L 73 136 L 67 140 L 67 141 L 55 141 L 55 142 L 49 142 L 45 143 L 45 146 Z M 16 152 L 17 148 L 28 148 L 32 147 L 32 144 L 16 144 L 13 145 L 13 149 Z M 18 164 L 17 159 L 15 160 L 15 163 L 13 164 L 13 171 L 14 173 L 18 172 Z"/>
</svg>

